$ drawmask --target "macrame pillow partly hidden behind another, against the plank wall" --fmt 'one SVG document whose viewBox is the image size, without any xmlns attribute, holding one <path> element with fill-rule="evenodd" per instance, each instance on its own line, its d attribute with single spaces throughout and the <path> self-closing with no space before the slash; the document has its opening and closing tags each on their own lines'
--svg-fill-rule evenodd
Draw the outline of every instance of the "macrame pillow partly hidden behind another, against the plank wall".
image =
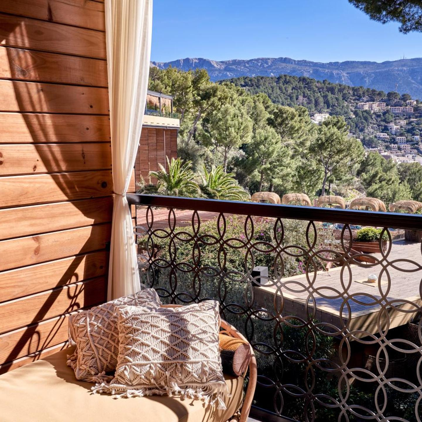
<svg viewBox="0 0 422 422">
<path fill-rule="evenodd" d="M 68 366 L 75 371 L 76 379 L 100 382 L 113 378 L 106 372 L 116 369 L 119 330 L 114 310 L 121 305 L 157 308 L 160 298 L 154 289 L 144 289 L 71 315 L 69 340 L 71 344 L 76 344 L 76 349 L 68 356 Z"/>
</svg>

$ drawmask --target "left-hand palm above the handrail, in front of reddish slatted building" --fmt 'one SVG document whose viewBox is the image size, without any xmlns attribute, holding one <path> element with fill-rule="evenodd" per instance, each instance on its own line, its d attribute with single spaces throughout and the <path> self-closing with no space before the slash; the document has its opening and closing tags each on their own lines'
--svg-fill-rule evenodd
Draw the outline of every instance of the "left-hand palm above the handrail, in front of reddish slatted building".
<svg viewBox="0 0 422 422">
<path fill-rule="evenodd" d="M 170 162 L 166 157 L 166 160 L 168 172 L 161 164 L 160 171 L 150 171 L 149 177 L 155 177 L 157 184 L 149 184 L 145 191 L 159 195 L 199 197 L 200 189 L 191 170 L 192 163 L 183 162 L 180 158 L 172 158 Z"/>
</svg>

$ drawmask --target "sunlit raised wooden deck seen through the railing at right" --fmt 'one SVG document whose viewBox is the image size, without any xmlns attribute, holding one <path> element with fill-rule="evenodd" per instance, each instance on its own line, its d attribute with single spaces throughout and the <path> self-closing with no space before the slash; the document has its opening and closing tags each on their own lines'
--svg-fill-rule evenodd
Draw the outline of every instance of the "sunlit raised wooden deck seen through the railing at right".
<svg viewBox="0 0 422 422">
<path fill-rule="evenodd" d="M 373 256 L 381 259 L 381 254 L 373 254 Z M 341 267 L 333 268 L 328 272 L 319 271 L 312 284 L 313 298 L 317 307 L 316 319 L 333 324 L 335 327 L 343 327 L 342 324 L 350 319 L 349 330 L 365 330 L 368 333 L 378 333 L 378 324 L 382 330 L 406 324 L 414 316 L 417 307 L 422 306 L 419 293 L 422 279 L 421 244 L 395 242 L 388 260 L 395 262 L 398 267 L 395 269 L 390 265 L 386 268 L 390 275 L 390 286 L 385 270 L 380 285 L 378 282 L 362 284 L 356 281 L 367 279 L 368 274 L 371 273 L 379 276 L 382 271 L 381 265 L 369 268 L 351 265 L 350 273 L 345 268 L 342 277 Z M 417 262 L 418 266 L 410 264 L 408 260 Z M 410 272 L 410 270 L 413 271 Z M 343 279 L 343 285 L 341 279 Z M 282 295 L 284 298 L 282 314 L 295 315 L 308 320 L 306 303 L 309 297 L 308 290 L 312 291 L 312 289 L 309 288 L 310 282 L 306 279 L 306 275 L 289 277 L 281 281 L 283 285 L 281 293 L 278 293 L 280 297 L 277 302 L 281 304 Z M 268 299 L 272 301 L 275 291 L 274 286 L 257 287 L 255 289 L 257 302 L 262 305 L 268 303 Z M 381 300 L 386 294 L 387 300 L 385 298 Z M 345 302 L 350 307 L 350 312 Z M 309 311 L 312 312 L 313 309 L 314 305 L 309 301 Z"/>
</svg>

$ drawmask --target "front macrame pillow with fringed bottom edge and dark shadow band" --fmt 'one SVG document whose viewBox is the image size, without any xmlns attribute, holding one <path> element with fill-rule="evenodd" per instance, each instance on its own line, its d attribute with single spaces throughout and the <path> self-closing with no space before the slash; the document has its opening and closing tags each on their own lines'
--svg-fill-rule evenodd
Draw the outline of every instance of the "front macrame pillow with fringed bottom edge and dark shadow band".
<svg viewBox="0 0 422 422">
<path fill-rule="evenodd" d="M 180 308 L 116 307 L 119 358 L 110 384 L 92 391 L 120 397 L 180 394 L 225 409 L 218 303 Z"/>
</svg>

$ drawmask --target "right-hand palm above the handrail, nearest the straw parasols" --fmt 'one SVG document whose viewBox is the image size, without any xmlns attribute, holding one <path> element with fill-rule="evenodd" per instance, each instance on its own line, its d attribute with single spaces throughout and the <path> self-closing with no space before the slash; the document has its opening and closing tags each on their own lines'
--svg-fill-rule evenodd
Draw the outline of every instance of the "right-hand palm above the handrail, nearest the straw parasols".
<svg viewBox="0 0 422 422">
<path fill-rule="evenodd" d="M 210 172 L 207 171 L 205 166 L 203 170 L 200 189 L 204 197 L 235 201 L 249 198 L 249 194 L 237 184 L 233 174 L 225 173 L 221 165 L 218 167 L 213 165 Z"/>
</svg>

